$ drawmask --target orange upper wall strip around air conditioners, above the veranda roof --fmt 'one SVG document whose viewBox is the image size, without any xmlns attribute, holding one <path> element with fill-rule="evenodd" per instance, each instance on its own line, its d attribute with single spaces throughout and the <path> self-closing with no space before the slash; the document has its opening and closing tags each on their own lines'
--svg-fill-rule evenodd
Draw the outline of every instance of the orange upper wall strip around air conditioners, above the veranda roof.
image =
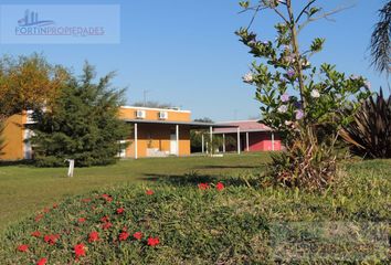
<svg viewBox="0 0 391 265">
<path fill-rule="evenodd" d="M 190 121 L 190 112 L 187 110 L 171 110 L 171 109 L 158 109 L 158 108 L 137 108 L 137 107 L 120 107 L 119 109 L 119 118 L 127 119 L 136 119 L 137 109 L 146 110 L 146 118 L 149 120 L 159 120 L 159 113 L 167 112 L 168 118 L 167 120 L 176 120 L 176 121 Z"/>
</svg>

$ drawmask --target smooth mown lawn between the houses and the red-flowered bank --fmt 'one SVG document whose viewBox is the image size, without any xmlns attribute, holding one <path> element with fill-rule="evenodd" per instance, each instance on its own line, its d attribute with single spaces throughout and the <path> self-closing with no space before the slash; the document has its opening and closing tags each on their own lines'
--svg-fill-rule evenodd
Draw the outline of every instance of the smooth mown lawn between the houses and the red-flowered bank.
<svg viewBox="0 0 391 265">
<path fill-rule="evenodd" d="M 0 230 L 70 195 L 193 171 L 200 174 L 237 176 L 257 170 L 267 159 L 267 153 L 256 153 L 229 155 L 223 158 L 124 160 L 109 167 L 77 168 L 73 178 L 65 178 L 65 168 L 0 166 Z"/>
</svg>

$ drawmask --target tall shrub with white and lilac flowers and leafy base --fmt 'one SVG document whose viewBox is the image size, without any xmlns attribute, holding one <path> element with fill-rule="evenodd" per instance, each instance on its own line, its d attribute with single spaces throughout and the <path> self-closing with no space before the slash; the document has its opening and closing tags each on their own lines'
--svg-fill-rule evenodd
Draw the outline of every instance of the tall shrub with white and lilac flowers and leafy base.
<svg viewBox="0 0 391 265">
<path fill-rule="evenodd" d="M 342 126 L 370 95 L 362 76 L 346 75 L 310 59 L 323 50 L 325 39 L 315 38 L 308 47 L 299 45 L 299 33 L 313 21 L 327 18 L 317 0 L 303 1 L 295 12 L 292 0 L 241 1 L 243 11 L 271 11 L 279 21 L 276 38 L 261 39 L 247 28 L 236 34 L 255 57 L 243 81 L 256 87 L 262 121 L 283 135 L 287 152 L 274 157 L 271 173 L 278 182 L 324 189 L 336 177 L 334 145 Z M 297 7 L 297 6 L 295 6 Z"/>
</svg>

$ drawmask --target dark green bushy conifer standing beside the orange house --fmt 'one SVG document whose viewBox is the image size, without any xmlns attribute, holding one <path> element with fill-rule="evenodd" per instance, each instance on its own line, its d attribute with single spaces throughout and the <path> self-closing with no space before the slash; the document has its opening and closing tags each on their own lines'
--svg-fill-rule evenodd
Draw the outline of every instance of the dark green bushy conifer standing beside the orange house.
<svg viewBox="0 0 391 265">
<path fill-rule="evenodd" d="M 36 109 L 33 118 L 34 159 L 38 166 L 64 166 L 75 159 L 80 167 L 116 161 L 130 128 L 118 119 L 124 89 L 110 85 L 113 73 L 94 83 L 94 67 L 86 63 L 83 75 L 62 88 L 53 107 Z"/>
</svg>

